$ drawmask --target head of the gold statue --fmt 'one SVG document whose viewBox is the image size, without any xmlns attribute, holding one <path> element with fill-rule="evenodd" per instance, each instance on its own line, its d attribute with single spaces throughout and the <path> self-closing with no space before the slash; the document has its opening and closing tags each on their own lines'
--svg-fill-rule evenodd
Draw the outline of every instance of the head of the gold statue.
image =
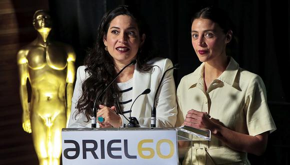
<svg viewBox="0 0 290 165">
<path fill-rule="evenodd" d="M 32 23 L 36 30 L 41 28 L 51 28 L 49 12 L 43 9 L 35 11 Z"/>
</svg>

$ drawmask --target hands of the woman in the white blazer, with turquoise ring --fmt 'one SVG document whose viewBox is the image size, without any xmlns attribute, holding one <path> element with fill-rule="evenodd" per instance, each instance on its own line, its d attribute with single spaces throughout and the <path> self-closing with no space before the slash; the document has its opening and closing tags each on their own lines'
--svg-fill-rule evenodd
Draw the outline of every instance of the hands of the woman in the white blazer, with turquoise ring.
<svg viewBox="0 0 290 165">
<path fill-rule="evenodd" d="M 122 125 L 121 117 L 115 112 L 116 107 L 107 107 L 99 105 L 99 110 L 96 113 L 96 117 L 102 116 L 103 122 L 99 122 L 100 127 L 120 127 Z"/>
</svg>

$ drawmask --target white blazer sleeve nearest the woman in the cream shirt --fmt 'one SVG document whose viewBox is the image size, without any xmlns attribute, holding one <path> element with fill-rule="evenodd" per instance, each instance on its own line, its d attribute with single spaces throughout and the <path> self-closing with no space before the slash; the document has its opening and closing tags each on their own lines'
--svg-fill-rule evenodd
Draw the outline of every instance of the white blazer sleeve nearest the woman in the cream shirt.
<svg viewBox="0 0 290 165">
<path fill-rule="evenodd" d="M 173 67 L 170 59 L 166 58 L 162 76 L 168 68 Z M 161 79 L 161 78 L 160 78 Z M 176 122 L 177 104 L 176 88 L 173 78 L 173 69 L 166 72 L 156 97 L 156 127 L 174 127 Z"/>
</svg>

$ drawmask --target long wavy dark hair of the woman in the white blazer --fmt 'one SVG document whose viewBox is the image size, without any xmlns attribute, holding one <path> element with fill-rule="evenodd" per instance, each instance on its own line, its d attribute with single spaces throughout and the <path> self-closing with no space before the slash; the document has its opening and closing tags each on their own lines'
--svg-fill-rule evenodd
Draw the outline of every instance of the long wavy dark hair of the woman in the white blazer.
<svg viewBox="0 0 290 165">
<path fill-rule="evenodd" d="M 78 109 L 76 114 L 84 112 L 87 121 L 90 119 L 92 113 L 94 99 L 117 74 L 112 56 L 104 49 L 103 36 L 107 34 L 111 20 L 118 15 L 128 15 L 133 18 L 137 23 L 139 35 L 142 36 L 142 34 L 145 34 L 146 36 L 142 47 L 139 48 L 136 55 L 138 70 L 148 71 L 150 67 L 146 62 L 154 56 L 151 51 L 151 37 L 148 28 L 140 15 L 133 8 L 122 5 L 105 13 L 97 28 L 96 43 L 84 60 L 86 66 L 85 71 L 89 74 L 89 77 L 82 83 L 82 94 L 76 104 L 76 108 Z M 116 82 L 113 82 L 100 99 L 97 100 L 96 105 L 104 104 L 109 107 L 116 105 L 118 91 L 119 89 Z"/>
</svg>

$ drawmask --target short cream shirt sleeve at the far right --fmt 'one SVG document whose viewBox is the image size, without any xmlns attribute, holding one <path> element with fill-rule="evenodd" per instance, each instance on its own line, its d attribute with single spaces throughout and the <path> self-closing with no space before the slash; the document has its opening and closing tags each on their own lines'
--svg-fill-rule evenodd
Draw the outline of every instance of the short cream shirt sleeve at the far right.
<svg viewBox="0 0 290 165">
<path fill-rule="evenodd" d="M 276 129 L 267 105 L 265 86 L 258 75 L 255 75 L 249 82 L 244 110 L 249 135 L 255 136 L 265 131 L 271 133 Z"/>
</svg>

